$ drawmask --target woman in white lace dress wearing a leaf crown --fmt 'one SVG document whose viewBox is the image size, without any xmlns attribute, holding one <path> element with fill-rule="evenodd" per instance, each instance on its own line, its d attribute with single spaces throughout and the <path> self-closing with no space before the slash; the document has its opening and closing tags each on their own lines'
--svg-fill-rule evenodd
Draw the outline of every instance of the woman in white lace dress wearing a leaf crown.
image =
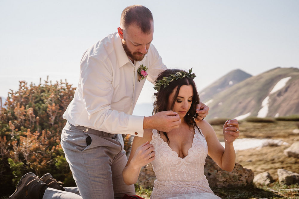
<svg viewBox="0 0 299 199">
<path fill-rule="evenodd" d="M 193 119 L 199 96 L 191 72 L 168 69 L 160 73 L 153 113 L 172 110 L 180 115 L 181 124 L 170 132 L 146 129 L 143 138 L 135 137 L 123 170 L 125 183 L 134 184 L 141 167 L 151 162 L 157 178 L 151 198 L 219 198 L 204 175 L 207 154 L 222 169 L 234 169 L 233 141 L 239 136 L 239 124 L 237 120 L 225 122 L 224 148 L 207 121 Z"/>
</svg>

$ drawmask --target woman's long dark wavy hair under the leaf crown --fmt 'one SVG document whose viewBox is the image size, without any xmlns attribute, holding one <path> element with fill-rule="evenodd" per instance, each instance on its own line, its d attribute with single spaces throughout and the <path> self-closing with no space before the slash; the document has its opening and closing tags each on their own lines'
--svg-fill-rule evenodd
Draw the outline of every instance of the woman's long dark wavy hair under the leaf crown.
<svg viewBox="0 0 299 199">
<path fill-rule="evenodd" d="M 161 72 L 158 77 L 157 81 L 161 80 L 163 77 L 169 77 L 172 74 L 175 74 L 176 72 L 186 72 L 184 70 L 179 69 L 167 69 Z M 155 92 L 155 102 L 154 102 L 154 109 L 152 111 L 152 114 L 155 114 L 157 112 L 161 111 L 167 111 L 167 105 L 171 103 L 171 109 L 173 109 L 174 104 L 176 103 L 176 98 L 179 95 L 179 91 L 182 85 L 191 85 L 193 88 L 193 98 L 192 98 L 192 104 L 190 109 L 188 110 L 187 114 L 184 117 L 184 121 L 189 125 L 189 127 L 193 127 L 194 124 L 194 117 L 196 118 L 196 105 L 199 104 L 199 95 L 196 90 L 196 85 L 192 78 L 181 78 L 177 79 L 175 81 L 171 81 L 168 86 L 164 88 L 164 85 L 160 87 L 160 90 L 158 92 Z M 177 88 L 176 88 L 177 87 Z M 168 101 L 169 95 L 173 92 L 173 90 L 176 88 L 176 93 L 173 97 L 173 100 L 171 102 Z M 197 127 L 197 125 L 195 124 Z M 197 127 L 198 128 L 198 127 Z M 169 138 L 167 136 L 166 132 L 163 132 L 167 139 L 167 143 L 169 143 Z"/>
</svg>

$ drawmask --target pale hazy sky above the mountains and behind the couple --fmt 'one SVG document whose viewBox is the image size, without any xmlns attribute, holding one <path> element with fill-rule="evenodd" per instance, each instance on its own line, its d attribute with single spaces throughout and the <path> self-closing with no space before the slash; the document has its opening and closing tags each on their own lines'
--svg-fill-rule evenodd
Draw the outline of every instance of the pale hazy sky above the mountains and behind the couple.
<svg viewBox="0 0 299 199">
<path fill-rule="evenodd" d="M 117 31 L 132 4 L 151 10 L 152 44 L 168 68 L 192 67 L 198 90 L 235 69 L 299 68 L 298 0 L 0 0 L 0 96 L 47 76 L 77 87 L 83 53 Z M 153 92 L 147 82 L 138 103 Z"/>
</svg>

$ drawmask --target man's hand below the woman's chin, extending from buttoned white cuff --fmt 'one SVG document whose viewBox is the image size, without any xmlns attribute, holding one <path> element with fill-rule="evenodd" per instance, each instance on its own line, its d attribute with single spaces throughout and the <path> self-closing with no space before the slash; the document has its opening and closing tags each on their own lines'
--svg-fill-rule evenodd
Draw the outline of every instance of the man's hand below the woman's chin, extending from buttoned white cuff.
<svg viewBox="0 0 299 199">
<path fill-rule="evenodd" d="M 144 117 L 143 129 L 157 129 L 158 131 L 169 132 L 179 128 L 181 119 L 178 113 L 173 111 L 161 111 L 155 115 Z"/>
</svg>

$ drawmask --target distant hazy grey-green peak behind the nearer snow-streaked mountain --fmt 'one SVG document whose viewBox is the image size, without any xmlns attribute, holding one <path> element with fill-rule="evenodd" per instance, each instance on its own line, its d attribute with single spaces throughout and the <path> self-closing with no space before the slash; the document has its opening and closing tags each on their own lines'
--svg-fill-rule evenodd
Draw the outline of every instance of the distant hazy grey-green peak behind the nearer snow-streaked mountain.
<svg viewBox="0 0 299 199">
<path fill-rule="evenodd" d="M 217 81 L 213 82 L 210 86 L 199 92 L 199 97 L 201 101 L 208 101 L 213 98 L 213 95 L 222 92 L 252 75 L 237 69 L 229 72 L 228 74 L 222 76 Z"/>
</svg>

